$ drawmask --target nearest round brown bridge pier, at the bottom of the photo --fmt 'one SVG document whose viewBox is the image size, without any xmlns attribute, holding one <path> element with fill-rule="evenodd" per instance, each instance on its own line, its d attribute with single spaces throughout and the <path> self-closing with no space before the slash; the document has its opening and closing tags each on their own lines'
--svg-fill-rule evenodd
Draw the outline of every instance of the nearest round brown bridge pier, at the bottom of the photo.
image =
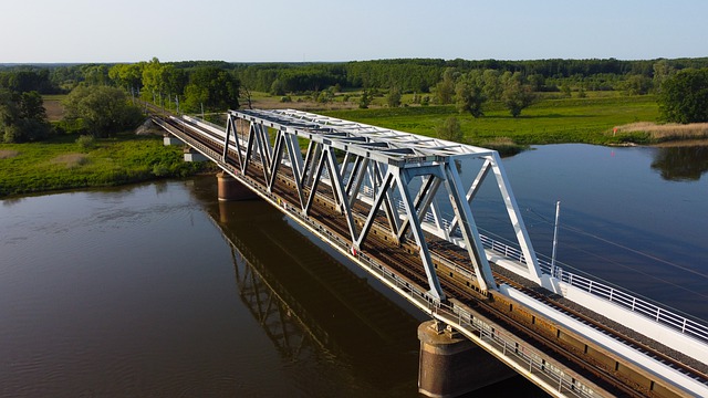
<svg viewBox="0 0 708 398">
<path fill-rule="evenodd" d="M 458 397 L 516 376 L 514 370 L 437 321 L 420 324 L 418 339 L 418 392 L 425 396 Z"/>
</svg>

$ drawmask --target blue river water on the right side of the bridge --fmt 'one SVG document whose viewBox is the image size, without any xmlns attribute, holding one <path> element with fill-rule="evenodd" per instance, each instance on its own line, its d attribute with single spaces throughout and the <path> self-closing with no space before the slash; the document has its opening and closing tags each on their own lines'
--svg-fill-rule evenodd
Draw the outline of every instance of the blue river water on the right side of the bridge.
<svg viewBox="0 0 708 398">
<path fill-rule="evenodd" d="M 540 254 L 560 200 L 559 261 L 708 320 L 708 146 L 551 145 L 504 167 Z M 477 221 L 511 237 L 485 188 Z"/>
</svg>

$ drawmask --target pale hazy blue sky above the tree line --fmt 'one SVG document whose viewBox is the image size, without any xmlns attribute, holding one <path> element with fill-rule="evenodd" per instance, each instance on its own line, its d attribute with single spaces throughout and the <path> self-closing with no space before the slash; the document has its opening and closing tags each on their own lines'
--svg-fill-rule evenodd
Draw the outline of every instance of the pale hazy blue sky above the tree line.
<svg viewBox="0 0 708 398">
<path fill-rule="evenodd" d="M 708 56 L 707 0 L 0 0 L 0 63 Z"/>
</svg>

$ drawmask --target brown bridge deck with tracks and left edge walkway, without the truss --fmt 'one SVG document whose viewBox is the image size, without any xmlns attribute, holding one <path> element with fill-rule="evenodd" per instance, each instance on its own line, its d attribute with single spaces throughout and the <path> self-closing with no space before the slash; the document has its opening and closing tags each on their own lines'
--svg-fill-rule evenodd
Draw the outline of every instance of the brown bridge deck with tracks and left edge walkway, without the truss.
<svg viewBox="0 0 708 398">
<path fill-rule="evenodd" d="M 169 126 L 165 125 L 165 127 L 170 130 Z M 475 315 L 469 315 L 467 320 L 470 325 L 476 321 L 475 317 L 482 321 L 493 320 L 493 322 L 489 321 L 488 323 L 488 325 L 493 325 L 489 326 L 491 329 L 487 331 L 490 333 L 489 338 L 493 339 L 498 337 L 500 331 L 506 331 L 503 332 L 504 334 L 511 333 L 514 336 L 524 338 L 525 344 L 522 348 L 533 350 L 538 353 L 538 355 L 542 355 L 542 353 L 551 355 L 553 359 L 539 359 L 539 364 L 537 364 L 535 367 L 538 367 L 539 370 L 545 370 L 545 373 L 537 371 L 535 377 L 545 377 L 546 384 L 555 383 L 556 386 L 560 385 L 558 390 L 563 392 L 561 395 L 589 396 L 587 390 L 595 390 L 596 392 L 605 391 L 606 394 L 634 396 L 681 396 L 681 389 L 677 388 L 678 386 L 674 386 L 670 380 L 668 383 L 660 380 L 656 375 L 652 375 L 642 369 L 631 368 L 626 364 L 622 364 L 621 368 L 620 359 L 606 353 L 602 347 L 597 347 L 595 342 L 583 338 L 583 336 L 577 335 L 577 333 L 573 331 L 562 329 L 558 323 L 544 318 L 544 316 L 538 312 L 524 307 L 517 301 L 499 295 L 496 292 L 488 292 L 480 289 L 473 277 L 475 270 L 467 255 L 467 251 L 458 245 L 438 239 L 435 235 L 426 234 L 433 263 L 440 277 L 440 285 L 449 297 L 448 304 L 440 305 L 441 303 L 436 303 L 433 297 L 425 293 L 426 289 L 424 286 L 428 284 L 428 279 L 421 258 L 417 252 L 419 250 L 418 247 L 415 242 L 405 240 L 397 242 L 388 239 L 389 228 L 386 224 L 388 221 L 383 214 L 383 211 L 375 217 L 372 234 L 366 241 L 366 244 L 361 247 L 358 252 L 352 253 L 348 251 L 348 248 L 352 248 L 355 242 L 352 241 L 348 234 L 348 220 L 341 212 L 331 187 L 326 185 L 316 186 L 317 195 L 315 196 L 312 208 L 310 212 L 303 214 L 300 209 L 296 181 L 291 168 L 281 168 L 273 181 L 274 184 L 269 184 L 266 179 L 267 172 L 263 170 L 266 166 L 258 157 L 251 160 L 247 172 L 241 174 L 240 165 L 236 160 L 240 155 L 235 149 L 229 148 L 228 156 L 225 158 L 222 156 L 223 146 L 205 140 L 204 137 L 200 136 L 205 133 L 197 132 L 194 126 L 173 126 L 170 133 L 178 135 L 190 146 L 217 161 L 220 167 L 237 176 L 239 180 L 247 184 L 251 189 L 271 200 L 271 202 L 279 206 L 282 211 L 319 233 L 321 238 L 335 245 L 342 252 L 360 262 L 367 262 L 368 264 L 378 266 L 384 275 L 391 273 L 391 275 L 393 275 L 392 280 L 395 281 L 396 286 L 400 289 L 400 291 L 412 296 L 417 294 L 415 300 L 418 302 L 427 302 L 428 310 L 431 311 L 434 315 L 438 313 L 438 318 L 449 318 L 449 316 L 459 317 L 461 313 L 467 314 L 469 311 L 473 311 Z M 354 222 L 358 227 L 365 223 L 368 208 L 366 203 L 361 201 L 353 203 L 352 214 Z M 386 270 L 382 268 L 382 264 L 385 264 Z M 699 384 L 707 385 L 707 369 L 705 364 L 694 360 L 688 356 L 678 355 L 643 336 L 639 338 L 638 336 L 641 335 L 637 335 L 631 329 L 610 322 L 603 316 L 582 306 L 573 305 L 573 303 L 570 303 L 560 295 L 553 294 L 538 286 L 538 284 L 509 272 L 504 268 L 493 263 L 491 266 L 498 283 L 512 285 L 550 306 L 562 308 L 563 312 L 583 318 L 583 322 L 587 324 L 593 324 L 593 327 L 604 328 L 605 331 L 603 333 L 605 334 L 614 335 L 616 338 L 629 342 L 627 344 L 642 346 L 645 350 L 658 349 L 664 353 L 664 355 L 658 352 L 656 353 L 656 355 L 663 356 L 663 362 L 673 362 L 670 366 L 681 368 L 679 371 L 688 374 L 690 378 L 698 380 Z M 415 292 L 417 293 L 414 294 Z M 448 307 L 451 310 L 445 310 Z M 464 322 L 459 323 L 462 324 Z M 485 333 L 485 329 L 480 329 L 476 332 L 476 335 L 483 341 Z M 549 342 L 549 335 L 553 337 L 553 342 Z M 501 349 L 503 349 L 506 354 L 508 349 L 506 343 Z M 518 352 L 518 343 L 517 346 L 511 349 Z M 514 354 L 523 356 L 519 353 Z M 575 362 L 579 356 L 583 357 L 583 360 Z M 539 358 L 541 356 L 539 356 Z M 530 365 L 525 366 L 534 368 L 533 360 L 531 360 Z M 561 374 L 570 375 L 573 381 L 564 381 L 562 376 L 560 379 L 553 381 L 552 377 L 549 376 L 548 368 L 555 366 L 562 367 L 563 370 Z M 545 369 L 542 369 L 544 367 Z M 627 368 L 626 370 L 624 369 L 625 367 Z M 611 369 L 606 371 L 602 370 L 603 368 Z M 614 371 L 612 371 L 612 368 L 614 368 Z M 625 370 L 625 373 L 622 370 Z M 576 384 L 576 380 L 584 380 L 584 384 Z M 566 384 L 565 386 L 563 386 L 564 383 Z"/>
</svg>

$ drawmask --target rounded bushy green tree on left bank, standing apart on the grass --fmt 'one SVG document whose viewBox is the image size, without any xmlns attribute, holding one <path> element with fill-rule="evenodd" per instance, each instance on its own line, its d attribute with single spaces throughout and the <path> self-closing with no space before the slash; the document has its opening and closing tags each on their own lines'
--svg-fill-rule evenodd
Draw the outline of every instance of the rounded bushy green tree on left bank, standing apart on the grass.
<svg viewBox="0 0 708 398">
<path fill-rule="evenodd" d="M 66 118 L 82 119 L 95 137 L 135 127 L 143 119 L 140 109 L 129 103 L 125 92 L 110 86 L 80 85 L 69 93 L 64 107 Z"/>
</svg>

